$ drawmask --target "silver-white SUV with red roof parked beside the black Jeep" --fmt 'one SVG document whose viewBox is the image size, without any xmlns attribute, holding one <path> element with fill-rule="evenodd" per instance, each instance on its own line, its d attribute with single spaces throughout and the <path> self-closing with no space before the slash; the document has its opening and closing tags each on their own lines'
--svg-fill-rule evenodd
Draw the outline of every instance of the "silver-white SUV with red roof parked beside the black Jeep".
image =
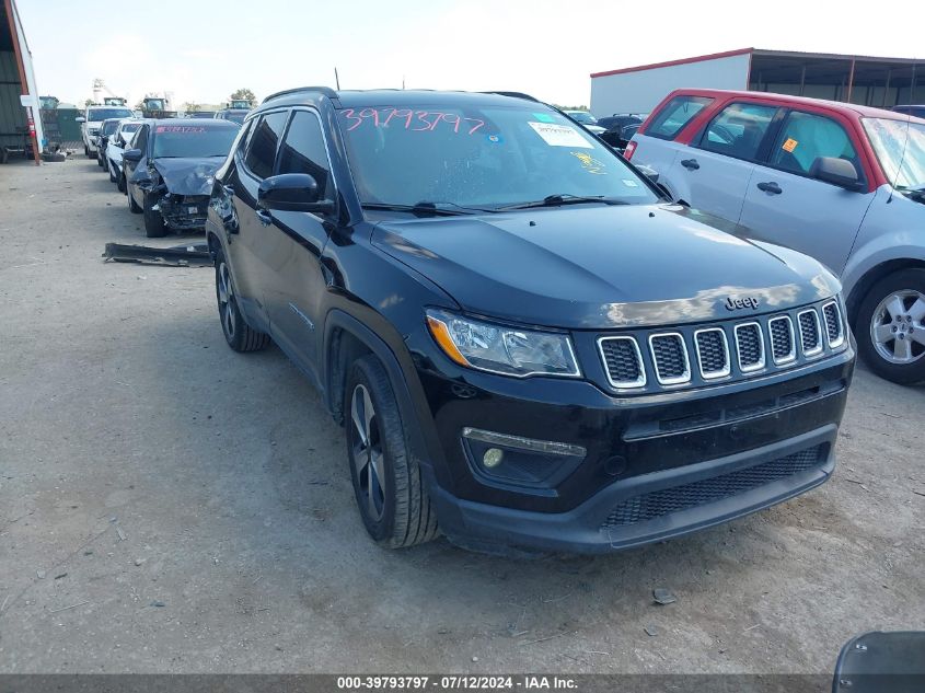
<svg viewBox="0 0 925 693">
<path fill-rule="evenodd" d="M 826 265 L 842 279 L 871 369 L 925 382 L 925 120 L 768 92 L 682 89 L 639 126 L 625 157 L 737 234 Z"/>
</svg>

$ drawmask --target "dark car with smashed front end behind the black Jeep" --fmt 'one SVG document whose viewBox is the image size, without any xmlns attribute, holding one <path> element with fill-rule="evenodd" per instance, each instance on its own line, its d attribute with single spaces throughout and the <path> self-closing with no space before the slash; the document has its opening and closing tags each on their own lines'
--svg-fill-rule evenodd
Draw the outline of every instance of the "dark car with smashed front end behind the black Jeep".
<svg viewBox="0 0 925 693">
<path fill-rule="evenodd" d="M 123 153 L 128 207 L 144 215 L 148 238 L 206 224 L 215 174 L 238 126 L 224 120 L 148 120 Z"/>
</svg>

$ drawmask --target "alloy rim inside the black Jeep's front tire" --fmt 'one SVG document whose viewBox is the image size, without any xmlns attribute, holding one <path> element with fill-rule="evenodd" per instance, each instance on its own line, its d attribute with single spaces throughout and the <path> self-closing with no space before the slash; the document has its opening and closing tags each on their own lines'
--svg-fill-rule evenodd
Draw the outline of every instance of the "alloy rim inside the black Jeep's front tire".
<svg viewBox="0 0 925 693">
<path fill-rule="evenodd" d="M 350 397 L 350 421 L 354 428 L 351 457 L 357 483 L 366 497 L 367 515 L 378 522 L 385 511 L 385 455 L 375 409 L 365 385 L 354 388 Z"/>
</svg>

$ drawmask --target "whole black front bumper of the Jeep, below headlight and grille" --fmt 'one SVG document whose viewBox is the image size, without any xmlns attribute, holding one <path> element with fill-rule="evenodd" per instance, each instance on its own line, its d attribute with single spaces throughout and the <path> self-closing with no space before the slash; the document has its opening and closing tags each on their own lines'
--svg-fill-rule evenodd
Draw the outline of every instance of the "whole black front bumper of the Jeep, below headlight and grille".
<svg viewBox="0 0 925 693">
<path fill-rule="evenodd" d="M 635 397 L 566 379 L 419 370 L 440 448 L 421 469 L 441 530 L 472 548 L 600 553 L 797 496 L 834 469 L 854 358 L 848 346 L 751 381 Z M 466 428 L 587 454 L 546 481 L 511 481 L 473 454 Z"/>
</svg>

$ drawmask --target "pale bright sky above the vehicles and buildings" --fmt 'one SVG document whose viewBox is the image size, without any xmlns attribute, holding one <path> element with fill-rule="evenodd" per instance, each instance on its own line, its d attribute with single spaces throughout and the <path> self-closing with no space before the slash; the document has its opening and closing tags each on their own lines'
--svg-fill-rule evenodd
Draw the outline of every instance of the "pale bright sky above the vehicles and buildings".
<svg viewBox="0 0 925 693">
<path fill-rule="evenodd" d="M 178 106 L 219 104 L 238 88 L 263 99 L 334 86 L 337 67 L 343 89 L 401 88 L 404 80 L 407 89 L 520 91 L 574 106 L 588 104 L 591 72 L 736 48 L 925 57 L 925 3 L 914 0 L 16 4 L 39 91 L 81 105 L 94 78 L 130 104 L 166 91 Z"/>
</svg>

